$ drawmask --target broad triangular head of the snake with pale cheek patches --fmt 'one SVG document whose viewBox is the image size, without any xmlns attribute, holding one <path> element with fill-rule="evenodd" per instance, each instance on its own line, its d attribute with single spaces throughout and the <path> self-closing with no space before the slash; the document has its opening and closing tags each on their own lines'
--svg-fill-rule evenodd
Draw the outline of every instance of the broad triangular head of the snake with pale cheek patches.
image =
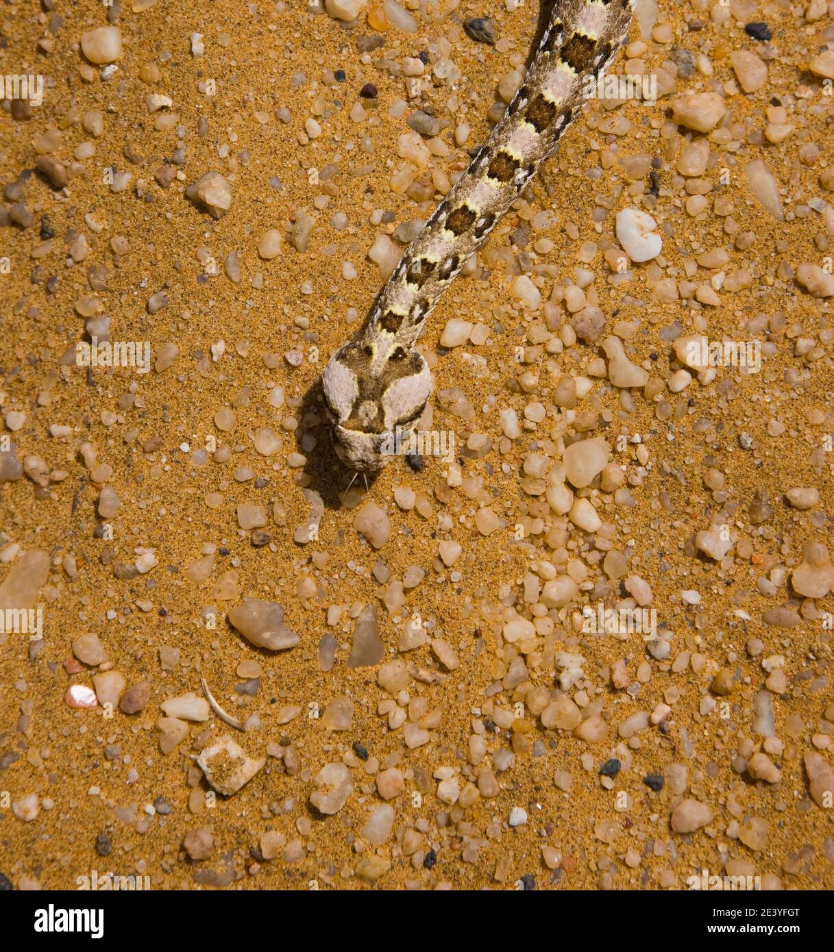
<svg viewBox="0 0 834 952">
<path fill-rule="evenodd" d="M 378 472 L 416 425 L 431 393 L 431 371 L 415 350 L 351 343 L 330 358 L 322 376 L 325 406 L 339 459 Z"/>
</svg>

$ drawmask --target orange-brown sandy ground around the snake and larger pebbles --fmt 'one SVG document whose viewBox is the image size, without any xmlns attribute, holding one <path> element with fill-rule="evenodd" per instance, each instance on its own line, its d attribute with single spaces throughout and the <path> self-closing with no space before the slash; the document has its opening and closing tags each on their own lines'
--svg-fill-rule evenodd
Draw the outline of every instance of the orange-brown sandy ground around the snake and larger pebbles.
<svg viewBox="0 0 834 952">
<path fill-rule="evenodd" d="M 666 72 L 672 88 L 655 105 L 632 101 L 609 111 L 592 102 L 559 158 L 493 232 L 491 251 L 456 281 L 428 322 L 423 345 L 435 395 L 425 424 L 455 432 L 460 467 L 427 457 L 414 472 L 397 459 L 367 496 L 354 487 L 343 506 L 339 494 L 349 473 L 336 464 L 326 428 L 318 426 L 324 415 L 315 384 L 384 284 L 368 248 L 379 233 L 427 218 L 441 197 L 428 188 L 415 202 L 390 188 L 391 175 L 409 167 L 397 154 L 399 137 L 410 131 L 407 115 L 416 108 L 432 112 L 446 145 L 429 146 L 433 154 L 427 169 L 415 170 L 418 180 L 432 169 L 446 175 L 466 169 L 467 149 L 487 136 L 498 80 L 527 60 L 539 11 L 464 2 L 439 23 L 414 10 L 416 32 L 380 33 L 368 25 L 367 11 L 350 27 L 295 0 L 248 6 L 218 0 L 199 10 L 158 2 L 138 12 L 128 4 L 110 14 L 124 46 L 118 69 L 104 79 L 79 43 L 108 22 L 108 8 L 92 0 L 51 6 L 7 5 L 0 28 L 0 72 L 45 77 L 43 104 L 30 117 L 15 118 L 10 109 L 0 114 L 0 182 L 6 186 L 33 169 L 39 148 L 69 169 L 64 188 L 32 174 L 23 201 L 33 224 L 24 228 L 7 218 L 0 229 L 0 253 L 9 259 L 8 273 L 0 275 L 2 435 L 19 460 L 41 461 L 29 461 L 26 474 L 0 486 L 0 558 L 9 564 L 0 565 L 0 579 L 25 552 L 50 558 L 49 577 L 32 603 L 43 607 L 43 642 L 32 647 L 26 634 L 0 636 L 0 872 L 20 888 L 72 888 L 95 870 L 99 877 L 148 876 L 152 888 L 680 889 L 706 869 L 758 876 L 774 888 L 830 888 L 834 811 L 823 795 L 812 798 L 804 759 L 827 764 L 820 783 L 830 799 L 834 696 L 826 613 L 834 611 L 834 599 L 830 592 L 804 598 L 790 581 L 804 545 L 829 544 L 834 506 L 834 456 L 826 452 L 834 431 L 830 298 L 794 280 L 803 263 L 825 269 L 834 237 L 831 208 L 827 217 L 824 210 L 831 192 L 821 184 L 834 159 L 834 98 L 825 95 L 824 76 L 805 69 L 834 42 L 829 10 L 816 3 L 810 12 L 786 3 L 712 9 L 661 3 L 656 23 L 649 17 L 645 50 L 621 54 L 615 69 L 623 72 L 626 58 L 645 71 L 677 63 L 677 77 Z M 493 19 L 498 47 L 467 36 L 462 24 L 472 16 Z M 773 39 L 764 84 L 745 93 L 729 56 L 740 49 L 762 53 L 763 43 L 742 29 L 754 21 L 765 22 Z M 653 38 L 653 27 L 665 30 Z M 192 33 L 203 34 L 200 57 L 191 52 Z M 367 51 L 364 62 L 358 43 L 373 36 L 383 45 Z M 630 40 L 640 38 L 633 24 Z M 427 72 L 409 86 L 399 74 L 404 58 L 421 52 Z M 701 53 L 711 76 L 692 69 Z M 460 78 L 432 75 L 445 57 Z M 377 68 L 382 59 L 396 65 L 397 75 Z M 341 82 L 333 76 L 339 69 Z M 356 122 L 350 112 L 367 83 L 378 89 L 376 106 Z M 709 133 L 708 169 L 685 178 L 676 169 L 681 137 L 704 137 L 676 129 L 670 103 L 685 91 L 707 89 L 725 97 L 726 135 Z M 170 105 L 149 112 L 153 93 L 169 96 Z M 405 110 L 396 108 L 398 100 Z M 781 105 L 786 117 L 768 117 L 768 105 Z M 276 115 L 282 109 L 288 122 Z M 101 113 L 100 135 L 86 128 L 95 126 L 90 111 Z M 160 122 L 171 113 L 176 121 Z M 322 131 L 310 139 L 305 123 L 313 116 Z M 601 129 L 612 116 L 627 118 L 627 128 Z M 201 117 L 208 121 L 204 134 Z M 454 132 L 463 123 L 471 131 L 461 147 Z M 762 131 L 768 123 L 794 129 L 771 143 Z M 60 138 L 52 132 L 46 142 L 39 139 L 49 129 L 60 130 Z M 82 149 L 78 158 L 82 143 L 91 143 L 94 154 Z M 809 143 L 817 154 L 804 149 Z M 154 173 L 176 149 L 183 150 L 173 165 L 179 174 L 163 188 Z M 639 161 L 635 177 L 617 161 L 639 155 L 657 159 L 651 179 Z M 778 182 L 783 221 L 751 194 L 744 167 L 755 159 L 764 159 Z M 328 164 L 337 174 L 316 184 L 310 170 Z M 129 172 L 127 188 L 114 193 L 107 169 Z M 588 175 L 589 169 L 596 171 Z M 185 196 L 190 183 L 212 170 L 231 190 L 231 206 L 217 220 Z M 687 190 L 686 182 L 695 184 Z M 706 198 L 700 211 L 686 204 L 698 191 Z M 716 201 L 731 210 L 716 210 Z M 4 204 L 12 205 L 9 196 Z M 301 252 L 290 239 L 305 208 L 317 220 Z M 617 247 L 614 216 L 621 208 L 650 211 L 664 247 L 617 284 L 603 252 Z M 391 214 L 381 219 L 375 209 Z M 603 214 L 594 217 L 594 209 Z M 543 211 L 552 216 L 534 219 Z M 341 228 L 332 224 L 338 212 Z M 517 229 L 530 219 L 532 234 L 520 236 Z M 258 240 L 270 228 L 281 233 L 281 251 L 263 260 Z M 751 239 L 739 247 L 743 233 Z M 78 235 L 86 236 L 86 254 Z M 112 244 L 120 236 L 128 249 L 116 246 L 125 253 Z M 590 261 L 588 242 L 596 243 Z M 726 264 L 698 263 L 712 248 L 726 249 Z M 234 251 L 238 282 L 224 267 Z M 344 276 L 346 262 L 355 277 Z M 107 268 L 101 280 L 93 272 L 97 288 L 90 266 Z M 571 321 L 565 288 L 578 280 L 577 268 L 591 272 L 586 300 L 602 310 L 605 335 L 619 333 L 631 361 L 659 381 L 657 394 L 612 386 L 604 338 L 576 341 L 564 330 Z M 730 282 L 727 290 L 716 275 L 734 271 L 749 280 Z M 515 278 L 522 273 L 541 286 L 537 308 L 519 303 Z M 694 290 L 676 289 L 666 301 L 657 288 L 665 279 L 673 288 L 686 281 L 712 288 L 712 295 L 702 290 L 701 300 Z M 149 299 L 160 291 L 167 305 L 150 314 Z M 88 374 L 62 366 L 68 348 L 86 339 L 79 307 L 109 316 L 112 340 L 149 341 L 153 361 L 174 344 L 176 359 L 149 373 L 92 367 Z M 759 315 L 764 320 L 754 332 L 747 322 Z M 456 317 L 486 326 L 485 341 L 439 347 L 443 328 Z M 674 321 L 680 329 L 664 336 Z M 721 367 L 714 380 L 696 378 L 671 392 L 666 382 L 681 369 L 671 340 L 702 331 L 713 340 L 760 339 L 761 371 Z M 519 347 L 528 348 L 528 365 L 518 362 Z M 286 357 L 293 361 L 295 353 L 302 358 L 297 367 Z M 592 384 L 575 407 L 554 406 L 561 375 Z M 274 396 L 270 404 L 274 387 L 283 388 L 283 406 L 274 406 Z M 442 407 L 438 394 L 450 387 L 462 388 L 470 419 Z M 234 408 L 231 430 L 216 426 L 221 407 Z M 517 438 L 502 430 L 499 412 L 506 408 L 522 421 Z M 269 456 L 253 442 L 262 427 L 283 438 Z M 491 441 L 484 453 L 479 434 Z M 589 488 L 575 487 L 602 519 L 592 531 L 548 505 L 547 477 L 537 471 L 542 454 L 558 461 L 577 434 L 604 437 L 609 462 L 625 476 L 619 495 L 599 475 Z M 92 447 L 87 457 L 83 444 Z M 206 462 L 193 456 L 207 446 Z M 227 461 L 212 460 L 214 446 L 230 447 Z M 95 468 L 101 465 L 109 468 Z M 254 478 L 236 478 L 247 466 Z M 713 469 L 720 480 L 709 475 Z M 103 486 L 120 501 L 107 519 L 97 512 Z M 295 526 L 308 518 L 303 487 L 325 503 L 319 538 L 307 545 L 293 540 Z M 416 508 L 396 505 L 397 487 L 413 490 Z M 785 497 L 791 487 L 813 487 L 818 498 L 805 509 L 791 506 Z M 758 489 L 767 490 L 773 512 L 754 524 L 749 506 Z M 389 520 L 378 549 L 353 526 L 367 501 Z M 236 507 L 246 504 L 267 511 L 260 527 L 269 536 L 265 545 L 253 545 L 251 531 L 238 526 Z M 489 535 L 475 523 L 485 507 L 500 524 Z M 104 523 L 112 538 L 102 538 L 109 534 Z M 726 526 L 732 542 L 717 560 L 699 552 L 693 539 L 713 523 Z M 461 546 L 452 565 L 438 557 L 445 541 Z M 602 569 L 611 548 L 627 562 L 614 580 Z M 153 550 L 157 565 L 114 572 L 141 560 L 143 549 Z M 189 565 L 212 551 L 209 579 L 191 581 Z M 389 612 L 382 597 L 410 565 L 426 577 L 407 590 L 404 606 Z M 576 583 L 566 605 L 539 601 L 554 574 Z M 659 627 L 670 635 L 665 658 L 653 656 L 639 633 L 582 630 L 585 605 L 594 612 L 603 602 L 635 606 L 621 587 L 632 577 L 650 586 L 645 606 L 656 609 Z M 216 587 L 221 580 L 227 591 Z M 242 638 L 227 614 L 247 597 L 284 605 L 300 644 L 272 652 Z M 363 605 L 378 607 L 385 660 L 404 662 L 407 687 L 391 693 L 380 686 L 379 665 L 348 667 Z M 213 630 L 207 606 L 214 606 Z M 328 625 L 332 606 L 341 607 L 341 617 Z M 789 624 L 773 624 L 772 616 L 768 624 L 765 613 L 780 606 Z M 440 660 L 444 646 L 436 643 L 435 650 L 427 643 L 398 651 L 413 614 L 431 639 L 447 643 L 452 664 Z M 539 623 L 529 625 L 532 635 L 525 629 L 521 644 L 505 637 L 518 617 Z M 338 648 L 332 669 L 323 671 L 319 643 L 327 632 Z M 87 633 L 106 652 L 103 667 L 73 659 L 73 640 Z M 179 650 L 171 670 L 160 660 L 166 647 Z M 565 651 L 584 659 L 571 684 L 560 681 Z M 621 659 L 627 676 L 617 687 L 612 672 Z M 520 681 L 512 677 L 513 661 L 526 664 Z M 260 671 L 256 693 L 236 692 L 258 670 L 252 663 Z M 143 709 L 126 714 L 66 704 L 69 685 L 91 687 L 97 668 L 118 671 L 127 686 L 149 682 Z M 784 677 L 772 679 L 774 670 Z M 716 684 L 719 672 L 726 691 Z M 250 719 L 250 729 L 227 727 L 212 713 L 188 724 L 187 736 L 164 754 L 160 704 L 189 691 L 202 696 L 201 677 L 229 715 Z M 753 697 L 763 691 L 772 698 L 772 737 L 753 725 Z M 542 723 L 545 702 L 563 692 L 586 722 L 601 721 L 596 743 Z M 328 731 L 315 715 L 346 695 L 352 722 Z M 397 712 L 418 698 L 424 707 L 410 709 L 417 720 L 427 718 L 429 740 L 410 749 Z M 280 712 L 290 706 L 300 712 L 282 724 Z M 622 724 L 640 712 L 657 717 L 624 736 L 629 728 Z M 266 758 L 229 797 L 211 794 L 193 760 L 222 736 L 233 736 L 251 757 Z M 473 754 L 473 737 L 486 742 L 483 753 L 476 742 Z M 355 744 L 367 750 L 367 760 Z M 775 783 L 751 776 L 758 754 L 777 771 Z M 600 767 L 612 759 L 619 772 L 607 777 Z M 353 790 L 335 815 L 323 816 L 308 798 L 328 763 L 348 764 Z M 375 777 L 387 769 L 399 770 L 403 782 L 388 801 Z M 497 789 L 489 789 L 484 771 Z M 764 772 L 770 773 L 766 765 Z M 644 783 L 648 775 L 665 775 L 663 789 L 652 791 Z M 438 796 L 449 777 L 458 779 L 466 806 Z M 479 780 L 484 789 L 476 799 Z M 709 819 L 697 830 L 675 829 L 682 825 L 675 810 L 689 801 L 708 804 Z M 393 808 L 392 823 L 383 842 L 374 843 L 367 819 L 385 803 Z M 513 808 L 526 812 L 526 822 L 510 825 L 520 818 L 511 816 Z M 384 833 L 388 819 L 376 814 Z M 197 830 L 191 858 L 183 844 Z M 195 839 L 209 846 L 194 848 Z"/>
</svg>

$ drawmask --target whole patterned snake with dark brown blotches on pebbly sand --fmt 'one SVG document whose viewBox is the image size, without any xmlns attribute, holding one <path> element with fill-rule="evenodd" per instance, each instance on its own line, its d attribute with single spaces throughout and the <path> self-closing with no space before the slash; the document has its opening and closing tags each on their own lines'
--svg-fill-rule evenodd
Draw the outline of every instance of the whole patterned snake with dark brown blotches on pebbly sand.
<svg viewBox="0 0 834 952">
<path fill-rule="evenodd" d="M 330 357 L 324 402 L 333 448 L 349 469 L 376 474 L 391 447 L 407 443 L 431 395 L 431 371 L 415 349 L 428 315 L 595 94 L 625 41 L 632 2 L 555 0 L 487 142 L 407 247 L 364 330 Z"/>
</svg>

